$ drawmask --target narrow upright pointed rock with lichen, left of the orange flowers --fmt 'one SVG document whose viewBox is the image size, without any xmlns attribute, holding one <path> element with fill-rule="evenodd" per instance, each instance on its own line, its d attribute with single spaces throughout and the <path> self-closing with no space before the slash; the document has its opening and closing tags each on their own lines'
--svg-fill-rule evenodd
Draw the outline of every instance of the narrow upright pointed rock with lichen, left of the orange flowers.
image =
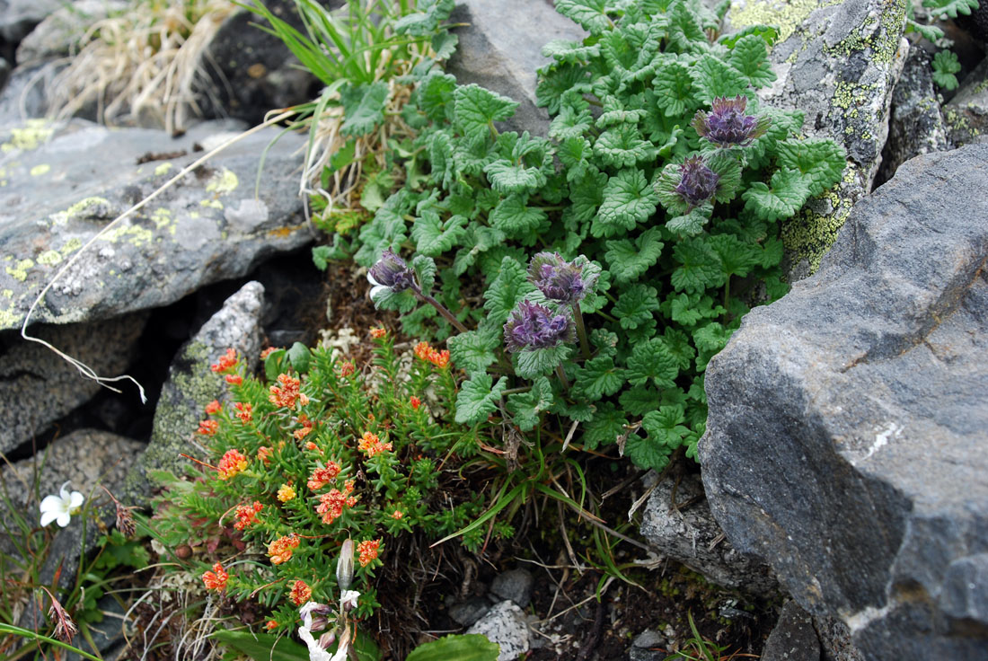
<svg viewBox="0 0 988 661">
<path fill-rule="evenodd" d="M 151 443 L 126 478 L 124 495 L 129 501 L 147 506 L 154 488 L 147 474 L 149 470 L 182 475 L 188 460 L 180 453 L 204 453 L 195 433 L 205 418 L 206 404 L 227 398 L 224 377 L 212 372 L 209 366 L 230 348 L 240 355 L 248 373 L 254 371 L 261 350 L 263 306 L 264 288 L 260 283 L 247 283 L 227 298 L 223 307 L 179 350 L 168 380 L 161 387 Z"/>
</svg>

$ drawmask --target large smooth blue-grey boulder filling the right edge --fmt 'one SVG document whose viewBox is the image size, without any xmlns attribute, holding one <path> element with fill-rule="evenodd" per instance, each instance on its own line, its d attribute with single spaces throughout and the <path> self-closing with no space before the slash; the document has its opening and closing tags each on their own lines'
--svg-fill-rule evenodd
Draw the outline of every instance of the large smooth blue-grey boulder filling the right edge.
<svg viewBox="0 0 988 661">
<path fill-rule="evenodd" d="M 904 164 L 706 372 L 714 516 L 867 659 L 988 649 L 986 173 Z"/>
</svg>

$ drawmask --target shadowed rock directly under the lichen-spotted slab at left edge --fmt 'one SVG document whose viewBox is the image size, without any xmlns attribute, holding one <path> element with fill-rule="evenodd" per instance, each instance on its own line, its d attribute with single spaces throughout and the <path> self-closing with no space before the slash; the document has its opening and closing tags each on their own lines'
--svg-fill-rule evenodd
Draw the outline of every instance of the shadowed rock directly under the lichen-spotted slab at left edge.
<svg viewBox="0 0 988 661">
<path fill-rule="evenodd" d="M 0 300 L 3 300 L 0 297 Z M 30 334 L 81 361 L 101 376 L 121 374 L 130 365 L 147 313 L 106 321 L 40 326 Z M 0 334 L 0 452 L 10 453 L 45 431 L 55 420 L 85 403 L 100 384 L 85 378 L 50 349 Z M 129 386 L 120 385 L 122 388 Z M 139 405 L 139 401 L 133 402 Z"/>
</svg>

